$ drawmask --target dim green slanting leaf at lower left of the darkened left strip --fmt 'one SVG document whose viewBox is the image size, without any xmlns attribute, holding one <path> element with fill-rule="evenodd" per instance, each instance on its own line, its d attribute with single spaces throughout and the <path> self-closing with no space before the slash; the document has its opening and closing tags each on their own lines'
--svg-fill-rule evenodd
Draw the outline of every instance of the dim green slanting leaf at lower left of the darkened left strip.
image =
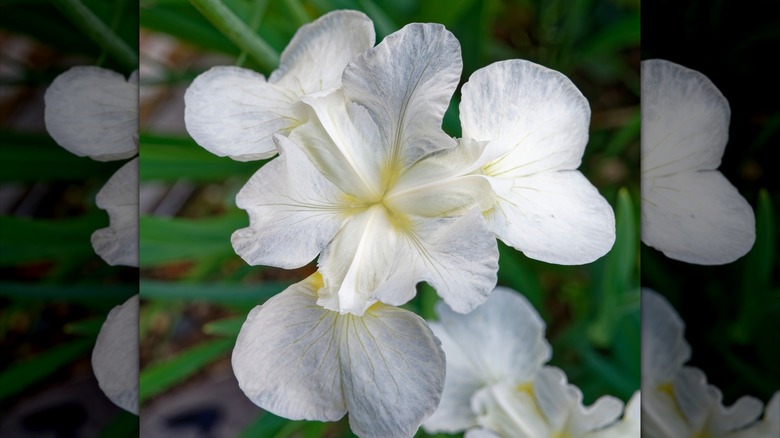
<svg viewBox="0 0 780 438">
<path fill-rule="evenodd" d="M 92 349 L 93 339 L 78 339 L 39 353 L 32 359 L 13 364 L 0 373 L 0 400 L 19 393 L 28 386 L 83 357 Z"/>
</svg>

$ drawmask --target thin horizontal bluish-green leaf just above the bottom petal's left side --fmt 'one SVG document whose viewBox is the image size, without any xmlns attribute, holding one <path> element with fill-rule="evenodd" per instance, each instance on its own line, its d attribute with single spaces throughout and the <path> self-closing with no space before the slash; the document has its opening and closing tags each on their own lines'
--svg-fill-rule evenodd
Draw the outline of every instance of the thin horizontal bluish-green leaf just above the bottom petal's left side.
<svg viewBox="0 0 780 438">
<path fill-rule="evenodd" d="M 141 297 L 147 300 L 190 300 L 198 299 L 213 303 L 255 306 L 287 288 L 289 284 L 265 282 L 259 284 L 226 283 L 173 283 L 164 281 L 141 281 Z"/>
</svg>

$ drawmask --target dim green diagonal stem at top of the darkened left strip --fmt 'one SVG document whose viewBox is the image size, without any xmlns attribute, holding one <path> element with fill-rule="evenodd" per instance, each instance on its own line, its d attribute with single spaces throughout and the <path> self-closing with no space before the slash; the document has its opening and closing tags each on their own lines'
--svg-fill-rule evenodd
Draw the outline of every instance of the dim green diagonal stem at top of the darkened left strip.
<svg viewBox="0 0 780 438">
<path fill-rule="evenodd" d="M 80 0 L 53 0 L 52 4 L 119 63 L 132 70 L 138 68 L 138 54 Z"/>
</svg>

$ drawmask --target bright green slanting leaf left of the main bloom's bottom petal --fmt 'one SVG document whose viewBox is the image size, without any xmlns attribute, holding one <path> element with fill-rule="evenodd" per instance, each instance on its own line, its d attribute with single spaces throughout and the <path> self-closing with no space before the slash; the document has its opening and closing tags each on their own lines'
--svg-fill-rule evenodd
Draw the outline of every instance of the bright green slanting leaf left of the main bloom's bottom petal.
<svg viewBox="0 0 780 438">
<path fill-rule="evenodd" d="M 209 363 L 223 357 L 233 343 L 232 339 L 206 341 L 172 359 L 144 368 L 139 376 L 139 401 L 143 403 L 193 376 Z"/>
</svg>

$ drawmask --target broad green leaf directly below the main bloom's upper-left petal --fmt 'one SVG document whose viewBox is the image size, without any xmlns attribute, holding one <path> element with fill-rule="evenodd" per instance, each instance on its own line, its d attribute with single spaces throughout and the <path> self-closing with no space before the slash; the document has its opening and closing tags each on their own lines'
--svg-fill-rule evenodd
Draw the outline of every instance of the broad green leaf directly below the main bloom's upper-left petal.
<svg viewBox="0 0 780 438">
<path fill-rule="evenodd" d="M 176 181 L 182 178 L 193 181 L 248 180 L 265 163 L 217 157 L 184 137 L 142 133 L 140 143 L 141 181 Z"/>
</svg>

